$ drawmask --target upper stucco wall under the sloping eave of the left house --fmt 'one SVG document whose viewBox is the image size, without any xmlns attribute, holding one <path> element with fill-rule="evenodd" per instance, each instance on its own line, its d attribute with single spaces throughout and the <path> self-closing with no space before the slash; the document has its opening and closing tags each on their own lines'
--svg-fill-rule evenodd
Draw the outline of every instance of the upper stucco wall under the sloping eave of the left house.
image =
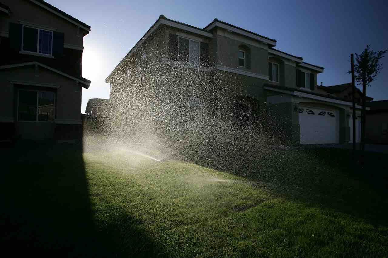
<svg viewBox="0 0 388 258">
<path fill-rule="evenodd" d="M 64 43 L 82 46 L 83 35 L 78 33 L 78 27 L 49 10 L 26 0 L 2 0 L 2 3 L 9 6 L 11 14 L 0 19 L 0 32 L 8 33 L 9 22 L 30 22 L 56 28 L 64 33 Z"/>
</svg>

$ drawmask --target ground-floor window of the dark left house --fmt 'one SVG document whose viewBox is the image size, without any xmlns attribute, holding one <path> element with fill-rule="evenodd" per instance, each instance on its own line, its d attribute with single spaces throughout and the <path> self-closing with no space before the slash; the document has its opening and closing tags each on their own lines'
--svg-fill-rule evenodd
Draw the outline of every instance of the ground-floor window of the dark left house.
<svg viewBox="0 0 388 258">
<path fill-rule="evenodd" d="M 54 122 L 55 93 L 20 89 L 17 108 L 19 121 Z"/>
</svg>

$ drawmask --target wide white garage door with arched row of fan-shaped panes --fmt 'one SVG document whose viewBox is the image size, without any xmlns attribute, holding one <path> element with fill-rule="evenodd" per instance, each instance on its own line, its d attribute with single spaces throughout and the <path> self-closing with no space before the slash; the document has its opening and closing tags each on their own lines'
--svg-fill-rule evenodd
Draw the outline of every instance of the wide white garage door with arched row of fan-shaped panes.
<svg viewBox="0 0 388 258">
<path fill-rule="evenodd" d="M 300 107 L 300 144 L 338 143 L 338 112 Z"/>
</svg>

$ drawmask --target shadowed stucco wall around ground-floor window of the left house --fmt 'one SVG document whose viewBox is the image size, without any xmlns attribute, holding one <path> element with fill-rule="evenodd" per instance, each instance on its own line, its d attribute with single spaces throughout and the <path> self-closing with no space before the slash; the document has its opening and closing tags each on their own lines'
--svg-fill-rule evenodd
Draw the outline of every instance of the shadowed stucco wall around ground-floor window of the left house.
<svg viewBox="0 0 388 258">
<path fill-rule="evenodd" d="M 0 78 L 0 101 L 2 103 L 0 120 L 16 122 L 16 91 L 14 83 L 17 82 L 13 81 L 21 81 L 59 85 L 59 88 L 56 89 L 56 122 L 61 122 L 62 124 L 78 122 L 80 124 L 82 91 L 76 81 L 42 67 L 39 67 L 38 72 L 36 73 L 33 65 L 1 69 Z M 29 86 L 25 85 L 25 87 L 28 88 Z M 40 88 L 42 88 L 42 90 L 45 89 L 45 87 L 39 87 L 39 89 Z"/>
</svg>

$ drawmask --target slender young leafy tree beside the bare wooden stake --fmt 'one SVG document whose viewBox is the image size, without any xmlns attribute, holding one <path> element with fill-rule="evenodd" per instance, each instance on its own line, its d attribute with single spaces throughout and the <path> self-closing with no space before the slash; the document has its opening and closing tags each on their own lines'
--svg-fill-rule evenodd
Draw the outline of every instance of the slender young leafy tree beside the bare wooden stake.
<svg viewBox="0 0 388 258">
<path fill-rule="evenodd" d="M 361 111 L 361 150 L 365 150 L 365 96 L 366 86 L 371 86 L 371 83 L 376 79 L 383 64 L 379 61 L 384 57 L 385 52 L 374 52 L 370 50 L 370 45 L 367 45 L 364 51 L 356 55 L 356 64 L 354 65 L 355 81 L 362 85 L 362 111 Z"/>
</svg>

